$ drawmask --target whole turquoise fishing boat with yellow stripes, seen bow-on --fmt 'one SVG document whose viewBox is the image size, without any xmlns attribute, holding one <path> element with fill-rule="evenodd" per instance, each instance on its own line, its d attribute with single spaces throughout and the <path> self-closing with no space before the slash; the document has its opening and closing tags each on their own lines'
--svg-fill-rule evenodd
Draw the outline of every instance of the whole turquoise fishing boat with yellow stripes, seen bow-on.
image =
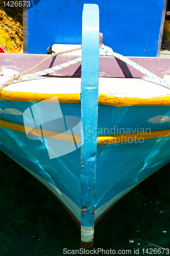
<svg viewBox="0 0 170 256">
<path fill-rule="evenodd" d="M 89 248 L 106 212 L 170 161 L 170 59 L 103 46 L 93 4 L 76 49 L 0 54 L 0 148 L 52 191 Z"/>
</svg>

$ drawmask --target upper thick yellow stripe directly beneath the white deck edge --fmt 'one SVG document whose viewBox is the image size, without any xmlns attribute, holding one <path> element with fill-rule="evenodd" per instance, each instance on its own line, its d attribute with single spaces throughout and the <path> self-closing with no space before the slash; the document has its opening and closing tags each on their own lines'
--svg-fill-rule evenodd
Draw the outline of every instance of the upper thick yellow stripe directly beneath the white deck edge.
<svg viewBox="0 0 170 256">
<path fill-rule="evenodd" d="M 80 103 L 79 93 L 28 93 L 28 92 L 13 92 L 2 90 L 0 100 L 10 101 L 26 101 L 26 102 L 40 102 L 49 98 L 57 97 L 62 103 Z M 115 97 L 107 94 L 99 95 L 99 104 L 111 106 L 168 106 L 170 105 L 170 96 L 163 96 L 157 98 L 134 98 L 134 97 Z"/>
</svg>

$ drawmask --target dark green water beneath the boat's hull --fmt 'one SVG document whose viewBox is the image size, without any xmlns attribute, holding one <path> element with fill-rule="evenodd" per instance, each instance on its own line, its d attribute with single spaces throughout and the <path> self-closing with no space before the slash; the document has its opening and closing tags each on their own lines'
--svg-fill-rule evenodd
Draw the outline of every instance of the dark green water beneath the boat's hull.
<svg viewBox="0 0 170 256">
<path fill-rule="evenodd" d="M 68 255 L 64 248 L 80 249 L 76 223 L 50 191 L 3 153 L 0 168 L 0 255 L 58 256 Z M 103 217 L 95 227 L 93 248 L 125 250 L 121 255 L 128 255 L 126 250 L 131 255 L 167 255 L 159 247 L 170 248 L 169 183 L 167 164 Z"/>
</svg>

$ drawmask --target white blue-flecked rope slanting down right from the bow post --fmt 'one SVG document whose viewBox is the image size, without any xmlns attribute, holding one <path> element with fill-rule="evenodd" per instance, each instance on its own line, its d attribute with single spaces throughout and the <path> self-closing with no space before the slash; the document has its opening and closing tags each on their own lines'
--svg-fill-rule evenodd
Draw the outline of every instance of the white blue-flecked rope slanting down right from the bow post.
<svg viewBox="0 0 170 256">
<path fill-rule="evenodd" d="M 127 63 L 128 65 L 133 67 L 134 69 L 140 71 L 144 75 L 147 75 L 147 76 L 157 80 L 159 83 L 162 84 L 162 86 L 167 87 L 167 88 L 170 89 L 170 85 L 165 80 L 163 80 L 162 78 L 154 75 L 152 72 L 148 71 L 147 69 L 144 69 L 143 67 L 139 66 L 137 63 L 133 62 L 132 60 L 128 59 L 127 57 L 124 57 L 123 55 L 118 54 L 116 52 L 113 52 L 113 50 L 110 47 L 103 46 L 100 49 L 101 49 L 101 51 L 100 51 L 99 55 L 114 56 L 114 57 L 124 61 L 125 63 Z"/>
</svg>

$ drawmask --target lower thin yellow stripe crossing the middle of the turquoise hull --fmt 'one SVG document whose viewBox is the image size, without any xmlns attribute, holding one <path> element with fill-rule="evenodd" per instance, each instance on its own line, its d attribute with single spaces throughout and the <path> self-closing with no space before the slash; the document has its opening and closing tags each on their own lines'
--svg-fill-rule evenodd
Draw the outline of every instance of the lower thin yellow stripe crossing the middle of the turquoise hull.
<svg viewBox="0 0 170 256">
<path fill-rule="evenodd" d="M 9 122 L 3 119 L 0 119 L 0 126 L 14 130 L 17 132 L 22 132 L 26 133 L 25 126 L 14 123 L 14 122 Z M 72 134 L 68 133 L 60 133 L 57 131 L 47 131 L 47 130 L 41 130 L 38 128 L 32 129 L 29 134 L 35 135 L 35 136 L 42 136 L 45 138 L 54 138 L 58 140 L 63 140 L 63 141 L 68 141 L 68 142 L 73 142 L 72 140 Z M 57 136 L 60 135 L 60 136 Z M 57 137 L 55 137 L 57 136 Z M 142 142 L 143 140 L 149 140 L 149 139 L 157 139 L 157 138 L 163 138 L 163 137 L 168 137 L 170 136 L 170 129 L 165 129 L 165 130 L 157 130 L 157 131 L 147 131 L 147 132 L 134 132 L 134 133 L 122 133 L 122 134 L 110 134 L 110 135 L 105 135 L 105 136 L 98 136 L 98 145 L 106 145 L 106 144 L 117 144 L 117 143 L 132 143 L 135 141 Z M 75 134 L 74 135 L 74 141 L 76 143 L 80 143 L 80 134 Z"/>
</svg>

